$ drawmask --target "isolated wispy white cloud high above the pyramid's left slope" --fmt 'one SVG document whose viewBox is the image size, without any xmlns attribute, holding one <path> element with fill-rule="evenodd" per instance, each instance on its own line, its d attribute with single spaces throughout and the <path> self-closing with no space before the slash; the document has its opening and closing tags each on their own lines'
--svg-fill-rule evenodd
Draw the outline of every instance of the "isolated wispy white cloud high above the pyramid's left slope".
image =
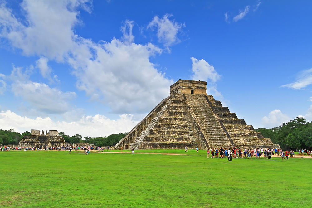
<svg viewBox="0 0 312 208">
<path fill-rule="evenodd" d="M 179 24 L 178 22 L 170 21 L 168 17 L 172 15 L 166 14 L 163 18 L 155 16 L 152 22 L 149 23 L 147 28 L 154 28 L 157 26 L 158 41 L 163 43 L 164 46 L 172 46 L 180 42 L 177 35 L 181 31 L 185 24 Z"/>
</svg>

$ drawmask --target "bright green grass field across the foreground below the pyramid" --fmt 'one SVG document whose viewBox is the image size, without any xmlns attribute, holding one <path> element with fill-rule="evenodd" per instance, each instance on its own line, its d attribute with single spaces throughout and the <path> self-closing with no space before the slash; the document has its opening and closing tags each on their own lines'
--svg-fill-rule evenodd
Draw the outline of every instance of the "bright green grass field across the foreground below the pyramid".
<svg viewBox="0 0 312 208">
<path fill-rule="evenodd" d="M 0 152 L 0 207 L 312 206 L 312 159 L 206 157 L 204 150 Z"/>
</svg>

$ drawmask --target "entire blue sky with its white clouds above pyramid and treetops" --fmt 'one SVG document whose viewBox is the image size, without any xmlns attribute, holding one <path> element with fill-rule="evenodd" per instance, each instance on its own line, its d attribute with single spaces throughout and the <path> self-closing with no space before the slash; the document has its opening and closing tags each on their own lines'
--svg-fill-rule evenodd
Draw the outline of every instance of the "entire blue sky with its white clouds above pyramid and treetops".
<svg viewBox="0 0 312 208">
<path fill-rule="evenodd" d="M 0 1 L 0 128 L 131 130 L 179 79 L 254 128 L 312 121 L 311 1 Z"/>
</svg>

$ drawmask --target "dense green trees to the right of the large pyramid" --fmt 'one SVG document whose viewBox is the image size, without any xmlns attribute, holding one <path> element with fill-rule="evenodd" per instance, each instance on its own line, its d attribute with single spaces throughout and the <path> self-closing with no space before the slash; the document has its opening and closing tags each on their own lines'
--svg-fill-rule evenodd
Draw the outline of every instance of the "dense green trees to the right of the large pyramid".
<svg viewBox="0 0 312 208">
<path fill-rule="evenodd" d="M 301 149 L 312 147 L 312 122 L 303 117 L 297 117 L 274 128 L 257 128 L 265 138 L 271 138 L 274 144 L 283 149 Z"/>
</svg>

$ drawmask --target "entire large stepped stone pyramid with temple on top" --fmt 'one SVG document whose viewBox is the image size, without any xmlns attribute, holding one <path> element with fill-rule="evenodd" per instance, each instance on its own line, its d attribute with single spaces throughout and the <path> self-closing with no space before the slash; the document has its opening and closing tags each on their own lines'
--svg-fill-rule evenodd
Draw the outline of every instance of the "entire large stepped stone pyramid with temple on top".
<svg viewBox="0 0 312 208">
<path fill-rule="evenodd" d="M 115 148 L 280 148 L 207 95 L 207 82 L 179 80 Z"/>
</svg>

